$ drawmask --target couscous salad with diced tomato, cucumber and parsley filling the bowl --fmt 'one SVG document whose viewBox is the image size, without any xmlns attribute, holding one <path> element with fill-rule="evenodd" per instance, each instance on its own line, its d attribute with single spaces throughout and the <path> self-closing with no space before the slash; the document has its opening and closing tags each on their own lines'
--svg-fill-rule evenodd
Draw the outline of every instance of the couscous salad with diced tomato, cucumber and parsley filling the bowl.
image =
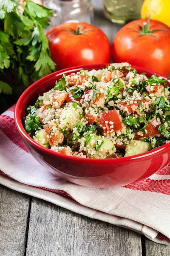
<svg viewBox="0 0 170 256">
<path fill-rule="evenodd" d="M 170 142 L 170 88 L 128 63 L 63 75 L 26 108 L 27 133 L 60 154 L 116 158 Z"/>
</svg>

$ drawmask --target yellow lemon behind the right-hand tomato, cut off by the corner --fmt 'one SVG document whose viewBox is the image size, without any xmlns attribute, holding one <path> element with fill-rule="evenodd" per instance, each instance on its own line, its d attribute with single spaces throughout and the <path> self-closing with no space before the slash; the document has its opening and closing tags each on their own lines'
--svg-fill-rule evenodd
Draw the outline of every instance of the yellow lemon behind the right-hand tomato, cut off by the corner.
<svg viewBox="0 0 170 256">
<path fill-rule="evenodd" d="M 144 0 L 141 9 L 142 19 L 159 20 L 170 26 L 170 0 Z"/>
</svg>

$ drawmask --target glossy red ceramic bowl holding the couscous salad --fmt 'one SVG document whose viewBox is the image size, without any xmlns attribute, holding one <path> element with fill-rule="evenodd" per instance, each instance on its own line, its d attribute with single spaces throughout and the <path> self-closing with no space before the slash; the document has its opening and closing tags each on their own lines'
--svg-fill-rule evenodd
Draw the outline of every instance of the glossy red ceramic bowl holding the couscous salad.
<svg viewBox="0 0 170 256">
<path fill-rule="evenodd" d="M 15 108 L 15 124 L 23 139 L 24 144 L 32 156 L 43 166 L 47 172 L 70 182 L 92 187 L 124 186 L 136 180 L 149 177 L 160 170 L 170 161 L 170 144 L 146 152 L 144 154 L 116 159 L 84 159 L 71 157 L 51 151 L 36 143 L 26 133 L 23 127 L 23 116 L 26 116 L 25 108 L 34 105 L 37 97 L 54 87 L 55 81 L 63 74 L 69 75 L 81 69 L 102 69 L 106 64 L 86 65 L 72 67 L 52 73 L 32 84 L 20 96 Z M 135 67 L 139 73 L 146 72 L 150 77 L 152 71 Z M 157 76 L 161 76 L 156 74 Z M 164 78 L 166 79 L 166 78 Z M 167 82 L 170 86 L 170 81 Z"/>
</svg>

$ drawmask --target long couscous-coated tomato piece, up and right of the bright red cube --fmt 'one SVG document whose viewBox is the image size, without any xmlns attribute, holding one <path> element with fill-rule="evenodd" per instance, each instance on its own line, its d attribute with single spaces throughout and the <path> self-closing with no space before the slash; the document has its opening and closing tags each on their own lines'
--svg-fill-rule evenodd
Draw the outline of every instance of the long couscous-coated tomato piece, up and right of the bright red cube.
<svg viewBox="0 0 170 256">
<path fill-rule="evenodd" d="M 135 103 L 134 103 L 135 102 Z M 137 102 L 137 100 L 133 101 L 133 104 L 127 104 L 126 102 L 118 102 L 117 106 L 120 110 L 124 111 L 124 112 L 128 112 L 128 113 L 134 113 L 139 109 L 139 105 L 140 104 L 145 104 L 149 102 L 149 100 L 140 100 L 139 102 Z"/>
</svg>

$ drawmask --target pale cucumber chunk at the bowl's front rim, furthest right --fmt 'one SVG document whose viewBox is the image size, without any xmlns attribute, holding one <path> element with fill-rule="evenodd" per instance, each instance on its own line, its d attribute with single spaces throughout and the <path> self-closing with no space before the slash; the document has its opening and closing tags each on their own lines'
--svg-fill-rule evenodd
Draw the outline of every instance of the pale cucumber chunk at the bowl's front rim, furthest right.
<svg viewBox="0 0 170 256">
<path fill-rule="evenodd" d="M 133 140 L 132 142 L 129 143 L 127 148 L 128 149 L 126 151 L 125 157 L 145 153 L 151 149 L 151 145 L 148 142 Z"/>
</svg>

